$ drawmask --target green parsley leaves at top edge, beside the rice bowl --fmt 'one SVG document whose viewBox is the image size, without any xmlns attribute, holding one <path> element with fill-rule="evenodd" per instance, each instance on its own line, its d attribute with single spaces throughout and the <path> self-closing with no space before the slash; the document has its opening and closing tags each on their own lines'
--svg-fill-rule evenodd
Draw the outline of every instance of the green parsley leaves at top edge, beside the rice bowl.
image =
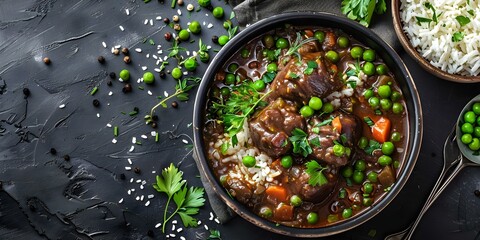
<svg viewBox="0 0 480 240">
<path fill-rule="evenodd" d="M 343 0 L 342 13 L 368 27 L 373 13 L 383 14 L 387 10 L 385 0 Z"/>
</svg>

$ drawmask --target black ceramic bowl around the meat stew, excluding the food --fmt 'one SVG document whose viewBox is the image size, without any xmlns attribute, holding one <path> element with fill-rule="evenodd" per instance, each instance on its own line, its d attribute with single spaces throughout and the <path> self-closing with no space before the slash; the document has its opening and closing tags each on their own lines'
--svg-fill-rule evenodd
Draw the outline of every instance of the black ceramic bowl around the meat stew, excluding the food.
<svg viewBox="0 0 480 240">
<path fill-rule="evenodd" d="M 405 155 L 405 159 L 403 159 L 403 164 L 401 166 L 397 182 L 392 187 L 391 191 L 367 211 L 364 211 L 363 213 L 358 214 L 349 220 L 341 221 L 337 224 L 322 228 L 293 228 L 283 225 L 277 226 L 274 222 L 257 216 L 246 206 L 228 196 L 226 190 L 222 187 L 219 180 L 211 171 L 208 159 L 206 158 L 205 142 L 203 141 L 203 128 L 206 120 L 205 110 L 207 107 L 206 102 L 209 96 L 209 90 L 213 84 L 216 72 L 223 67 L 223 65 L 235 52 L 239 51 L 239 49 L 242 49 L 242 47 L 250 40 L 272 29 L 284 27 L 285 24 L 341 29 L 343 32 L 353 36 L 356 40 L 373 48 L 395 75 L 396 80 L 402 89 L 408 109 L 410 128 L 408 129 L 409 133 L 407 149 L 405 149 L 407 154 Z M 378 214 L 401 191 L 402 187 L 410 176 L 420 151 L 423 133 L 422 113 L 418 92 L 415 84 L 412 81 L 410 73 L 397 53 L 375 33 L 361 26 L 360 24 L 357 24 L 356 22 L 332 14 L 310 12 L 292 12 L 270 17 L 268 19 L 259 21 L 252 26 L 249 26 L 235 36 L 232 40 L 230 40 L 228 44 L 225 45 L 215 56 L 205 72 L 205 75 L 203 76 L 203 80 L 200 84 L 195 100 L 193 126 L 195 151 L 198 156 L 199 170 L 204 173 L 208 179 L 208 182 L 212 185 L 218 196 L 238 215 L 250 221 L 251 223 L 275 233 L 295 237 L 321 237 L 337 234 L 352 229 Z"/>
</svg>

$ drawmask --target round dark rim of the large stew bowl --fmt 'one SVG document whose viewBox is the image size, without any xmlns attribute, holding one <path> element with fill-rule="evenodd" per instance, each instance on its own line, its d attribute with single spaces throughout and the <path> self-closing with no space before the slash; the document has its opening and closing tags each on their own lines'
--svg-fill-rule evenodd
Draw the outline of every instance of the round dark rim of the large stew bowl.
<svg viewBox="0 0 480 240">
<path fill-rule="evenodd" d="M 203 126 L 203 111 L 205 108 L 206 100 L 208 99 L 207 92 L 209 90 L 209 85 L 211 79 L 206 79 L 209 76 L 214 76 L 218 67 L 223 66 L 223 62 L 219 62 L 219 58 L 229 58 L 225 55 L 227 52 L 232 51 L 234 47 L 235 41 L 242 42 L 242 41 L 249 41 L 251 40 L 251 34 L 253 34 L 256 28 L 264 28 L 275 26 L 276 24 L 291 22 L 292 19 L 315 19 L 315 20 L 324 20 L 329 22 L 339 23 L 339 26 L 348 26 L 351 27 L 352 31 L 363 32 L 366 36 L 371 38 L 376 44 L 378 44 L 381 48 L 383 48 L 391 58 L 397 62 L 398 69 L 402 73 L 401 75 L 405 78 L 405 85 L 409 89 L 411 94 L 412 106 L 413 109 L 409 109 L 409 115 L 413 115 L 413 119 L 410 122 L 410 130 L 409 139 L 407 145 L 410 146 L 411 144 L 411 154 L 405 155 L 405 163 L 402 166 L 402 171 L 400 172 L 397 181 L 393 185 L 390 190 L 389 194 L 386 194 L 379 202 L 377 202 L 374 206 L 369 208 L 359 216 L 352 218 L 348 221 L 342 221 L 340 223 L 322 227 L 322 228 L 295 228 L 295 227 L 288 227 L 284 225 L 276 225 L 274 222 L 268 221 L 259 217 L 258 215 L 254 214 L 250 209 L 246 206 L 241 204 L 235 199 L 232 199 L 228 196 L 228 194 L 223 190 L 224 188 L 219 184 L 218 179 L 214 176 L 213 172 L 210 170 L 208 160 L 206 159 L 205 149 L 203 144 L 203 133 L 202 133 L 202 126 Z M 314 25 L 314 24 L 312 24 Z M 272 28 L 273 29 L 273 28 Z M 357 227 L 364 222 L 368 221 L 369 219 L 373 218 L 377 215 L 381 210 L 383 210 L 392 200 L 398 195 L 400 190 L 403 188 L 405 183 L 407 182 L 410 174 L 413 171 L 417 158 L 420 154 L 420 148 L 422 143 L 423 137 L 423 116 L 422 116 L 422 108 L 420 97 L 418 95 L 417 88 L 415 83 L 412 80 L 412 77 L 403 63 L 400 56 L 387 44 L 385 43 L 378 35 L 376 35 L 373 31 L 364 26 L 346 19 L 344 17 L 337 16 L 331 13 L 325 12 L 304 12 L 304 11 L 295 11 L 295 12 L 288 12 L 282 13 L 278 15 L 274 15 L 272 17 L 263 19 L 248 28 L 241 31 L 238 35 L 236 35 L 232 40 L 230 40 L 219 53 L 213 58 L 212 62 L 208 66 L 207 70 L 204 73 L 204 77 L 202 82 L 199 86 L 197 96 L 195 99 L 195 106 L 193 110 L 193 134 L 194 134 L 194 153 L 196 154 L 197 159 L 197 166 L 201 174 L 203 174 L 212 187 L 213 191 L 217 194 L 217 196 L 234 212 L 240 215 L 242 218 L 246 219 L 247 221 L 257 225 L 263 229 L 268 231 L 283 234 L 291 237 L 324 237 L 329 235 L 338 234 L 347 230 L 350 230 L 354 227 Z"/>
</svg>

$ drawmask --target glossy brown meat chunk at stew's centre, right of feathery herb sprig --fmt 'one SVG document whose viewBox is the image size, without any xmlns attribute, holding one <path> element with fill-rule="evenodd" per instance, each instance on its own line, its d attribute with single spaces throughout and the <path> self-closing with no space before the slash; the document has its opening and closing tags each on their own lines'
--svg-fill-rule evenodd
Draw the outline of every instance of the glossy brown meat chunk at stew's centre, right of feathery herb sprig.
<svg viewBox="0 0 480 240">
<path fill-rule="evenodd" d="M 250 121 L 250 135 L 255 146 L 272 158 L 291 149 L 288 137 L 295 128 L 305 129 L 305 120 L 295 104 L 281 98 L 271 102 Z"/>
</svg>

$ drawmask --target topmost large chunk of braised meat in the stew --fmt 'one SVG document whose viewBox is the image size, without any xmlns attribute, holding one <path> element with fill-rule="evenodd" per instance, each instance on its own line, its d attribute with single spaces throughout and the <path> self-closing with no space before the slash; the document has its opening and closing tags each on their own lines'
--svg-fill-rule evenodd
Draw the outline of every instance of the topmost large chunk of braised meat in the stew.
<svg viewBox="0 0 480 240">
<path fill-rule="evenodd" d="M 318 67 L 311 74 L 305 74 L 309 61 L 315 61 Z M 337 74 L 330 70 L 331 67 L 324 60 L 324 52 L 305 53 L 300 62 L 292 58 L 273 80 L 270 85 L 273 92 L 268 98 L 282 97 L 305 104 L 312 96 L 326 97 L 343 86 Z"/>
</svg>

